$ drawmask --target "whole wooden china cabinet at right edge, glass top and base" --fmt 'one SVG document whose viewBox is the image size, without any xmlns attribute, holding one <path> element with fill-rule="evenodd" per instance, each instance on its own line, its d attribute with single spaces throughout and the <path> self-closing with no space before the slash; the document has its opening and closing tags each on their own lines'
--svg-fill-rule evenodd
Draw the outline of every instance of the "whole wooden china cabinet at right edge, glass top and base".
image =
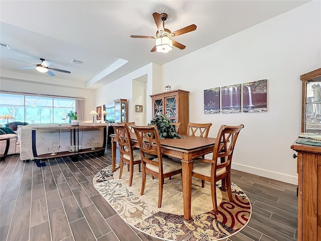
<svg viewBox="0 0 321 241">
<path fill-rule="evenodd" d="M 300 76 L 302 81 L 302 128 L 304 133 L 321 134 L 321 68 Z M 293 143 L 297 152 L 298 217 L 297 241 L 321 240 L 321 146 Z"/>
</svg>

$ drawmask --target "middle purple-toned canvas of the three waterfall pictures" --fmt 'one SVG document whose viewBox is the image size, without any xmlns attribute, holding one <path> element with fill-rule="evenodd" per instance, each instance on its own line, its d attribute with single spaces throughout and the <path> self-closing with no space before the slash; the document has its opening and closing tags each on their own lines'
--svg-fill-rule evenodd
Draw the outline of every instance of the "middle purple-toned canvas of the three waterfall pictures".
<svg viewBox="0 0 321 241">
<path fill-rule="evenodd" d="M 221 87 L 222 113 L 241 112 L 241 84 Z"/>
</svg>

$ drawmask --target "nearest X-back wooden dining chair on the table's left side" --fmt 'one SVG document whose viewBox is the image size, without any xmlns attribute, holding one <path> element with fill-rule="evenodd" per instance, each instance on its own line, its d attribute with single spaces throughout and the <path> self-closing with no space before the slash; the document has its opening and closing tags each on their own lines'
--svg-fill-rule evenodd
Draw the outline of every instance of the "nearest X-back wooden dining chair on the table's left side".
<svg viewBox="0 0 321 241">
<path fill-rule="evenodd" d="M 144 194 L 146 174 L 158 178 L 158 207 L 162 206 L 164 179 L 182 173 L 182 163 L 172 161 L 162 156 L 161 141 L 156 126 L 132 126 L 141 155 L 142 181 L 140 195 Z M 154 155 L 157 158 L 150 160 L 146 155 Z"/>
</svg>

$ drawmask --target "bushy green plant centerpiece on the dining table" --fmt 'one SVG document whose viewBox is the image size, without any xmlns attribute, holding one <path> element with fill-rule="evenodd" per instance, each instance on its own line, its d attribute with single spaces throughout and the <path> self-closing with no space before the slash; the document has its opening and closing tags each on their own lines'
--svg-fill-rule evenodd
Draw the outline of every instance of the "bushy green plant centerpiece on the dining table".
<svg viewBox="0 0 321 241">
<path fill-rule="evenodd" d="M 180 134 L 176 132 L 175 126 L 172 125 L 172 123 L 169 121 L 169 119 L 166 118 L 164 114 L 159 114 L 154 116 L 150 123 L 148 123 L 148 126 L 155 125 L 158 130 L 159 138 L 165 139 L 165 138 L 182 138 Z"/>
</svg>

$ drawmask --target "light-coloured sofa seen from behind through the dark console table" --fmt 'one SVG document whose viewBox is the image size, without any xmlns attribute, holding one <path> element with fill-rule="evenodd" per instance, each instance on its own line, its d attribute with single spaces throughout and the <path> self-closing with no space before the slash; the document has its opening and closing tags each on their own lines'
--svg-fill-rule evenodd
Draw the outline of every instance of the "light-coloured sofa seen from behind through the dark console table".
<svg viewBox="0 0 321 241">
<path fill-rule="evenodd" d="M 96 123 L 81 123 L 80 126 L 102 126 Z M 18 126 L 18 141 L 20 142 L 20 159 L 34 160 L 35 157 L 53 153 L 54 142 L 59 146 L 59 150 L 55 152 L 70 152 L 73 151 L 71 130 L 64 127 L 69 127 L 70 124 L 29 124 L 26 126 Z M 34 143 L 32 131 L 35 128 L 42 128 L 35 131 Z M 90 142 L 94 140 L 96 147 L 103 146 L 103 132 L 101 128 L 92 128 L 79 131 L 79 149 L 90 147 Z M 108 130 L 108 129 L 107 129 Z M 78 138 L 78 136 L 77 136 Z M 78 140 L 77 140 L 78 141 Z M 36 150 L 33 150 L 33 144 Z"/>
</svg>

